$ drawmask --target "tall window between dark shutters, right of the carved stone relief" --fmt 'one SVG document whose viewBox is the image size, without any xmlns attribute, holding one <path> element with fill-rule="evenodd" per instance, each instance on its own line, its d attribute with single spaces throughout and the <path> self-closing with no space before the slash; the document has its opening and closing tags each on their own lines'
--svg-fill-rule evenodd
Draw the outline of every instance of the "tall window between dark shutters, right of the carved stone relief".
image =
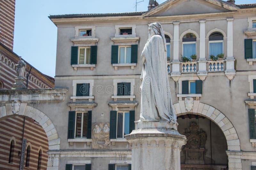
<svg viewBox="0 0 256 170">
<path fill-rule="evenodd" d="M 117 138 L 124 138 L 130 133 L 130 112 L 117 112 Z"/>
</svg>

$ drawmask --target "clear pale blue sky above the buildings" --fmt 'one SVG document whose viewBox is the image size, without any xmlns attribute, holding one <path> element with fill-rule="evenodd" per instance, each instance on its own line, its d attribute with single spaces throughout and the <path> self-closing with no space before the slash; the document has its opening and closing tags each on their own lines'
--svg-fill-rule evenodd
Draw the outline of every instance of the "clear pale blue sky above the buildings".
<svg viewBox="0 0 256 170">
<path fill-rule="evenodd" d="M 157 2 L 161 4 L 165 1 Z M 57 27 L 48 18 L 50 14 L 133 12 L 135 2 L 136 0 L 16 0 L 13 51 L 42 73 L 54 77 Z M 139 3 L 137 11 L 147 11 L 148 2 L 149 0 L 144 0 Z M 256 3 L 256 0 L 236 0 L 236 4 L 252 3 Z"/>
</svg>

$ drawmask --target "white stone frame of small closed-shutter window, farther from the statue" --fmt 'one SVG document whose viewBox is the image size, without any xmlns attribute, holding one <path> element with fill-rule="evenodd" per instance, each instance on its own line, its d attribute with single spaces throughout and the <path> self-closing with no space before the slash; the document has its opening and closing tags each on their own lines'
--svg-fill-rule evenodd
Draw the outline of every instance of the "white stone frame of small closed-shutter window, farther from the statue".
<svg viewBox="0 0 256 170">
<path fill-rule="evenodd" d="M 90 83 L 89 96 L 76 96 L 76 84 L 81 84 L 81 83 Z M 70 99 L 72 99 L 73 102 L 76 102 L 76 100 L 79 100 L 79 99 L 88 99 L 89 102 L 92 102 L 92 99 L 94 99 L 94 96 L 92 96 L 94 80 L 73 80 L 72 86 L 73 86 L 73 96 L 71 96 Z"/>
</svg>

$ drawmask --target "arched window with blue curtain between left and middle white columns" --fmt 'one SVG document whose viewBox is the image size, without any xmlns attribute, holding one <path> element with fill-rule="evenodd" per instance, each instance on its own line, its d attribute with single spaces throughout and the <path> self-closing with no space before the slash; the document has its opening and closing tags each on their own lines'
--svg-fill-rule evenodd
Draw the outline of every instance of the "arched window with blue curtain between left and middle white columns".
<svg viewBox="0 0 256 170">
<path fill-rule="evenodd" d="M 192 55 L 196 54 L 196 36 L 188 33 L 182 38 L 182 57 L 192 59 Z"/>
</svg>

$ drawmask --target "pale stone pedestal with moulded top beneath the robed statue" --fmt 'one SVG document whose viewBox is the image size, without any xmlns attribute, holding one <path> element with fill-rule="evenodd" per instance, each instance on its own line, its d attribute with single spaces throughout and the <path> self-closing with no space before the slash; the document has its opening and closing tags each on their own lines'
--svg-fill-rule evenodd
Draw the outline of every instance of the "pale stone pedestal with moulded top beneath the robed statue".
<svg viewBox="0 0 256 170">
<path fill-rule="evenodd" d="M 187 138 L 178 124 L 135 122 L 135 130 L 125 138 L 132 148 L 132 170 L 180 170 L 181 146 Z"/>
</svg>

